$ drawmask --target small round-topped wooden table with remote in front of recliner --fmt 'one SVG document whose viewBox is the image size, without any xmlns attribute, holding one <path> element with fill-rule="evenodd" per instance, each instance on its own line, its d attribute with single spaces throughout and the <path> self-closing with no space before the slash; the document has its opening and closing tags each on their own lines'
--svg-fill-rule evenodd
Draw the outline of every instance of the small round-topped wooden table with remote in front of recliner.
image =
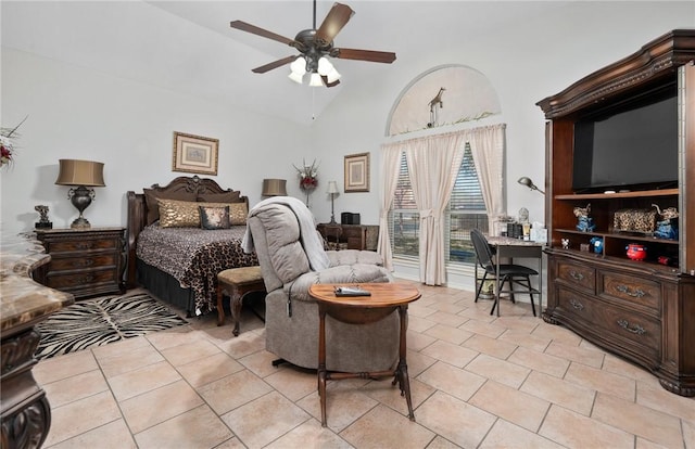
<svg viewBox="0 0 695 449">
<path fill-rule="evenodd" d="M 371 296 L 336 296 L 336 286 L 359 285 L 371 293 Z M 399 383 L 401 396 L 405 396 L 408 405 L 408 418 L 415 421 L 413 402 L 410 401 L 410 382 L 406 356 L 406 329 L 408 303 L 419 299 L 420 292 L 412 285 L 402 283 L 367 283 L 367 284 L 314 284 L 309 295 L 318 303 L 318 394 L 321 401 L 321 426 L 326 427 L 326 381 L 342 379 L 368 379 L 393 375 L 392 385 Z M 367 373 L 339 373 L 326 370 L 326 315 L 349 324 L 368 324 L 388 317 L 399 310 L 401 320 L 399 363 L 395 370 Z"/>
</svg>

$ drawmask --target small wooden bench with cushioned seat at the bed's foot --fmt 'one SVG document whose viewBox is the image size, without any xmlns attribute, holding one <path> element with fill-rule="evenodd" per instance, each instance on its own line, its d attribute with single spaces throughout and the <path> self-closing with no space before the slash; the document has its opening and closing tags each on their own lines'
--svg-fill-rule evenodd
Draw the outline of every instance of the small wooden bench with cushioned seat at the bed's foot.
<svg viewBox="0 0 695 449">
<path fill-rule="evenodd" d="M 241 317 L 241 305 L 243 297 L 251 292 L 265 291 L 261 267 L 230 268 L 217 273 L 217 325 L 225 323 L 225 309 L 223 307 L 223 293 L 229 294 L 229 309 L 235 321 L 232 333 L 239 335 L 239 318 Z"/>
</svg>

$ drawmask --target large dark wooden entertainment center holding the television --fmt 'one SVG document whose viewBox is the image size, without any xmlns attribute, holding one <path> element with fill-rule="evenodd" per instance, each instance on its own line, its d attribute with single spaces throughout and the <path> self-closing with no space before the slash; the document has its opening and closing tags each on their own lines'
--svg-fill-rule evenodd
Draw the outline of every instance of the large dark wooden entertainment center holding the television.
<svg viewBox="0 0 695 449">
<path fill-rule="evenodd" d="M 543 318 L 644 367 L 664 388 L 681 396 L 695 396 L 693 61 L 695 29 L 672 30 L 538 103 L 547 119 L 548 277 Z M 674 82 L 679 108 L 678 185 L 649 185 L 627 192 L 616 189 L 617 193 L 574 192 L 578 119 Z M 579 231 L 573 210 L 587 204 L 595 229 Z M 616 211 L 648 209 L 653 204 L 678 209 L 678 239 L 614 229 Z M 602 239 L 598 253 L 586 251 L 593 238 Z M 626 255 L 627 246 L 633 243 L 646 246 L 645 260 L 632 260 Z"/>
</svg>

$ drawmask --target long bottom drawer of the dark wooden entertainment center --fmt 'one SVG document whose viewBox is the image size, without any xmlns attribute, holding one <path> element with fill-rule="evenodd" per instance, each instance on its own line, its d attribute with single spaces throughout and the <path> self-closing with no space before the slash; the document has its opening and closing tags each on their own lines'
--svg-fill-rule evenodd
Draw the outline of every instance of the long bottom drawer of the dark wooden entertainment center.
<svg viewBox="0 0 695 449">
<path fill-rule="evenodd" d="M 590 328 L 601 328 L 605 343 L 628 349 L 642 360 L 657 363 L 661 348 L 659 320 L 590 298 L 567 288 L 558 288 L 558 305 Z"/>
</svg>

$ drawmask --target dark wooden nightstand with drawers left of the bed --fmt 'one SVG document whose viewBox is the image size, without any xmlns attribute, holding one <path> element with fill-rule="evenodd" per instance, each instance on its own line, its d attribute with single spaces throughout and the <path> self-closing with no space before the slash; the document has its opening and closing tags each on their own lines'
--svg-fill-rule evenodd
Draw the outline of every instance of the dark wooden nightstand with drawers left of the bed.
<svg viewBox="0 0 695 449">
<path fill-rule="evenodd" d="M 35 280 L 75 299 L 125 293 L 125 228 L 37 229 L 51 261 Z"/>
</svg>

